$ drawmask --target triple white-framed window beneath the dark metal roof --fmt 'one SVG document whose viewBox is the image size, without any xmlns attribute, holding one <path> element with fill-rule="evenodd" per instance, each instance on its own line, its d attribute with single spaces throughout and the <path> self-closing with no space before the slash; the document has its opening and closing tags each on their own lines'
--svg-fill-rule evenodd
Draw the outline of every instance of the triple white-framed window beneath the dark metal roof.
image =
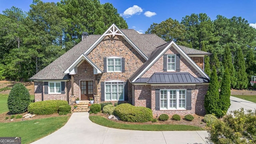
<svg viewBox="0 0 256 144">
<path fill-rule="evenodd" d="M 160 109 L 186 109 L 186 90 L 160 90 Z"/>
</svg>

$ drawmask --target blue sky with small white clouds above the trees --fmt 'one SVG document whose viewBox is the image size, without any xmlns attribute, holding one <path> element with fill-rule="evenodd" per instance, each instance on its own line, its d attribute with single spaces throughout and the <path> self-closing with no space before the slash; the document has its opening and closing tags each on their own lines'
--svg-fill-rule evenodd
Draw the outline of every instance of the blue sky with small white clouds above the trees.
<svg viewBox="0 0 256 144">
<path fill-rule="evenodd" d="M 60 0 L 42 0 L 59 2 Z M 206 13 L 212 20 L 218 14 L 226 18 L 241 16 L 256 28 L 256 0 L 100 0 L 109 2 L 126 20 L 129 28 L 144 33 L 153 22 L 160 23 L 168 18 L 179 22 L 192 13 Z M 23 11 L 30 9 L 32 0 L 0 0 L 0 12 L 16 6 Z"/>
</svg>

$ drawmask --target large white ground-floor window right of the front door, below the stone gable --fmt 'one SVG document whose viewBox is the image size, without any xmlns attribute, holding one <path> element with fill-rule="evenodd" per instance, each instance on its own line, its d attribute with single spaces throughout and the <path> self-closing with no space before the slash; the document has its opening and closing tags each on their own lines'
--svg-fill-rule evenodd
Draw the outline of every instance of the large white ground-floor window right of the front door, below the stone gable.
<svg viewBox="0 0 256 144">
<path fill-rule="evenodd" d="M 105 100 L 124 100 L 124 82 L 105 82 Z"/>
</svg>

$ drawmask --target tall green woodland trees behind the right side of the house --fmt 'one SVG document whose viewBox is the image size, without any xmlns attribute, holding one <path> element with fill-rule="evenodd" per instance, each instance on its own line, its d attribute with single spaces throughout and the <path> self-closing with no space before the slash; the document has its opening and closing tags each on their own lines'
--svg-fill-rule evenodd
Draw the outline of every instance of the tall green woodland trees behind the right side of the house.
<svg viewBox="0 0 256 144">
<path fill-rule="evenodd" d="M 213 67 L 216 68 L 219 88 L 226 68 L 231 88 L 250 87 L 251 76 L 256 75 L 256 29 L 244 18 L 218 15 L 216 20 L 211 20 L 204 13 L 191 14 L 183 17 L 181 22 L 168 18 L 159 24 L 153 23 L 146 33 L 210 52 L 204 60 L 205 72 L 210 76 Z"/>
</svg>

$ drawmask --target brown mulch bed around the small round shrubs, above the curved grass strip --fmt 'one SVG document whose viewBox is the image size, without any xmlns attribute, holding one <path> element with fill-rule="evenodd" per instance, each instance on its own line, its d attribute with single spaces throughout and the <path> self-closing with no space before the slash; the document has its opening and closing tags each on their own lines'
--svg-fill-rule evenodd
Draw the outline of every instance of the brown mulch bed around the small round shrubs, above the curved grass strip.
<svg viewBox="0 0 256 144">
<path fill-rule="evenodd" d="M 103 116 L 104 118 L 108 119 L 109 115 L 104 114 L 102 112 L 99 112 L 97 114 L 90 114 L 90 116 Z M 190 126 L 198 126 L 198 127 L 201 127 L 201 128 L 206 127 L 206 123 L 203 120 L 204 119 L 203 116 L 198 116 L 196 114 L 194 114 L 193 116 L 194 116 L 194 120 L 192 120 L 192 121 L 185 120 L 184 116 L 181 116 L 180 121 L 172 120 L 172 118 L 169 118 L 169 120 L 166 120 L 166 121 L 158 120 L 157 122 L 144 122 L 144 123 L 124 122 L 122 120 L 113 120 L 113 119 L 108 119 L 108 120 L 112 120 L 114 122 L 118 122 L 118 123 L 122 123 L 122 124 L 183 124 L 183 125 L 190 125 Z"/>
</svg>

